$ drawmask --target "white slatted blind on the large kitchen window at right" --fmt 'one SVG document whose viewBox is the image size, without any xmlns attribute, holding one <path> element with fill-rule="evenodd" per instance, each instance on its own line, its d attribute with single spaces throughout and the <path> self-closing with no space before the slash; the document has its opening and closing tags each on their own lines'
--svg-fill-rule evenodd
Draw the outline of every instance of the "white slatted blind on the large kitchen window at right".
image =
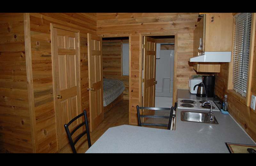
<svg viewBox="0 0 256 166">
<path fill-rule="evenodd" d="M 246 96 L 252 13 L 240 13 L 234 23 L 233 89 Z"/>
</svg>

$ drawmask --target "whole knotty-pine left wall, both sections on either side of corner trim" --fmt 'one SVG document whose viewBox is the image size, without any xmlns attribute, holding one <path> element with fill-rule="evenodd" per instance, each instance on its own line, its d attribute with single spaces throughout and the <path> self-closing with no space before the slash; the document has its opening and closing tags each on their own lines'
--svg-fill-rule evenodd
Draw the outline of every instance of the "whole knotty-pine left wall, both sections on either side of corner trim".
<svg viewBox="0 0 256 166">
<path fill-rule="evenodd" d="M 11 153 L 58 152 L 50 24 L 54 23 L 80 30 L 82 110 L 89 110 L 87 33 L 96 34 L 96 14 L 28 14 L 34 116 L 30 115 L 29 108 L 31 107 L 28 107 L 29 93 L 26 76 L 28 65 L 26 66 L 25 63 L 24 14 L 4 13 L 0 14 L 0 17 L 1 151 Z M 34 129 L 32 129 L 33 127 Z"/>
</svg>

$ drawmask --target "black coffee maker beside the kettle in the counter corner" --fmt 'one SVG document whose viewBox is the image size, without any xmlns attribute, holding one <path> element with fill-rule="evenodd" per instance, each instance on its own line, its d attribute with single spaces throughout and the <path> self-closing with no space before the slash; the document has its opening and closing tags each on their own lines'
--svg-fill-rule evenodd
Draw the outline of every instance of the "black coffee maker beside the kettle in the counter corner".
<svg viewBox="0 0 256 166">
<path fill-rule="evenodd" d="M 204 75 L 203 83 L 205 87 L 205 97 L 213 97 L 214 94 L 214 84 L 215 76 L 214 75 Z"/>
</svg>

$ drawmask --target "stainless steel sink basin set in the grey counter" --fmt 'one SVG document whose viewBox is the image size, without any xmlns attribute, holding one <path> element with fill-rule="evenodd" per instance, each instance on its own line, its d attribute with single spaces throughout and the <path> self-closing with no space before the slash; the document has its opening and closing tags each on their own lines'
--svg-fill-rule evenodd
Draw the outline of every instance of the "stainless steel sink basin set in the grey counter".
<svg viewBox="0 0 256 166">
<path fill-rule="evenodd" d="M 207 123 L 207 124 L 219 124 L 214 117 L 212 121 L 208 119 L 208 112 L 188 112 L 181 111 L 181 121 Z"/>
</svg>

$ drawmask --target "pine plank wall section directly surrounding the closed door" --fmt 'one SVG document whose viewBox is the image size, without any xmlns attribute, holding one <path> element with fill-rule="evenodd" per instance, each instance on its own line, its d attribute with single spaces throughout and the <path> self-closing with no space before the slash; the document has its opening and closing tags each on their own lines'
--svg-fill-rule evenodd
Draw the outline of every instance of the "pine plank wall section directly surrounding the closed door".
<svg viewBox="0 0 256 166">
<path fill-rule="evenodd" d="M 89 110 L 87 33 L 96 34 L 95 14 L 30 13 L 38 153 L 58 151 L 56 128 L 53 127 L 56 125 L 56 121 L 53 102 L 50 23 L 80 30 L 82 110 Z"/>
</svg>

